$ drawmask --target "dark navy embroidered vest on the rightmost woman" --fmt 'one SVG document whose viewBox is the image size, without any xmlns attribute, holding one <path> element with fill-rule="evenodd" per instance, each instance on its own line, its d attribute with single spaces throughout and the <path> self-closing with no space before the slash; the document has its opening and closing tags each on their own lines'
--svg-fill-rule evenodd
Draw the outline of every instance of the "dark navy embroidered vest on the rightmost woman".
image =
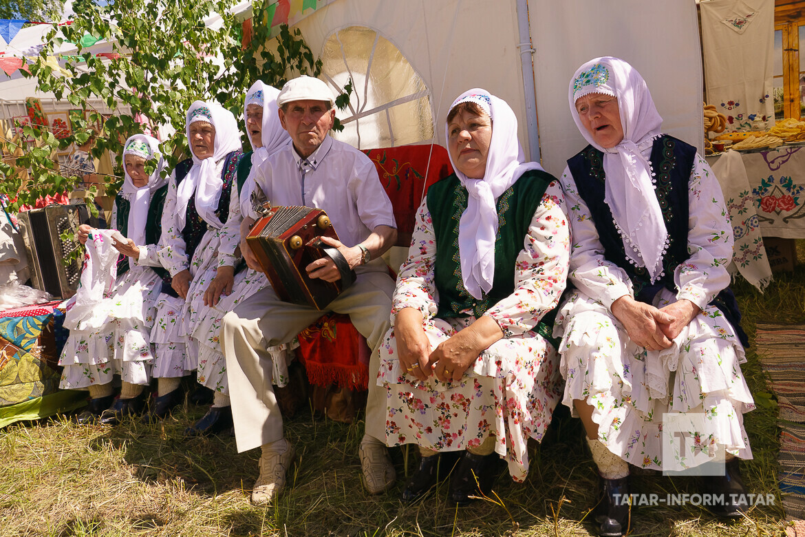
<svg viewBox="0 0 805 537">
<path fill-rule="evenodd" d="M 679 264 L 685 262 L 690 254 L 687 252 L 687 220 L 688 220 L 688 182 L 696 159 L 696 147 L 682 140 L 663 134 L 654 140 L 651 147 L 650 163 L 656 180 L 654 193 L 659 207 L 663 211 L 663 220 L 668 232 L 669 245 L 663 256 L 663 275 L 654 284 L 650 283 L 648 271 L 642 266 L 634 266 L 626 257 L 623 240 L 615 228 L 612 211 L 604 201 L 604 154 L 595 147 L 587 146 L 583 151 L 568 160 L 568 169 L 579 195 L 587 204 L 596 226 L 604 257 L 620 266 L 634 287 L 634 298 L 650 304 L 654 295 L 666 287 L 676 292 L 674 271 Z M 727 287 L 712 300 L 719 308 L 745 346 L 749 346 L 749 338 L 741 328 L 741 312 L 733 295 Z"/>
</svg>

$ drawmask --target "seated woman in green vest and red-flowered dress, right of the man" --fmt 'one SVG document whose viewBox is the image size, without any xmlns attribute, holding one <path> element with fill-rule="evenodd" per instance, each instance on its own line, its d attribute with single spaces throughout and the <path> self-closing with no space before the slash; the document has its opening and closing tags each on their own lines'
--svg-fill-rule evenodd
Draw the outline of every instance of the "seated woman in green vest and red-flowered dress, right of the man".
<svg viewBox="0 0 805 537">
<path fill-rule="evenodd" d="M 403 500 L 436 483 L 442 452 L 460 452 L 450 494 L 464 504 L 478 494 L 473 474 L 489 493 L 499 457 L 526 478 L 528 439 L 542 439 L 559 403 L 559 358 L 541 321 L 564 291 L 570 237 L 559 181 L 523 162 L 505 101 L 460 95 L 446 136 L 456 173 L 419 207 L 378 382 L 386 443 L 422 455 Z"/>
</svg>

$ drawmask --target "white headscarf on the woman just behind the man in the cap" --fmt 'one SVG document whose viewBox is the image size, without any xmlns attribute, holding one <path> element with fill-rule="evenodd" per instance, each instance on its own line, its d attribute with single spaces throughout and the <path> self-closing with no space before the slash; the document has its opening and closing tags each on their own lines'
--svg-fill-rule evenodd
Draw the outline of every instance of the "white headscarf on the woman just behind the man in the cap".
<svg viewBox="0 0 805 537">
<path fill-rule="evenodd" d="M 262 138 L 262 147 L 254 147 L 252 153 L 252 167 L 258 167 L 270 155 L 274 155 L 279 149 L 288 145 L 291 142 L 291 135 L 287 130 L 283 129 L 282 123 L 279 122 L 279 114 L 277 110 L 277 96 L 279 89 L 270 85 L 263 84 L 262 81 L 255 82 L 252 87 L 246 92 L 246 100 L 243 101 L 243 122 L 246 123 L 246 107 L 248 105 L 261 105 L 262 106 L 262 127 L 260 131 L 260 138 Z M 251 192 L 254 190 L 254 173 L 250 171 L 249 177 L 243 184 L 242 192 Z M 249 196 L 242 196 L 241 206 L 244 203 L 251 205 Z"/>
</svg>

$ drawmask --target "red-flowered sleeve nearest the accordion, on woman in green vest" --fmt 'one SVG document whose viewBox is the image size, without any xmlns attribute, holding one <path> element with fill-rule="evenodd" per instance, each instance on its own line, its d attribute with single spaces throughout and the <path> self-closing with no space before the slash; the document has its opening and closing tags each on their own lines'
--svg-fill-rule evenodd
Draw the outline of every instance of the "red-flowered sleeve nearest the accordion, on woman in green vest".
<svg viewBox="0 0 805 537">
<path fill-rule="evenodd" d="M 397 287 L 391 299 L 391 324 L 403 308 L 416 308 L 423 319 L 431 319 L 439 310 L 439 295 L 433 277 L 436 262 L 436 233 L 433 231 L 431 213 L 427 210 L 427 198 L 422 200 L 416 212 L 414 233 L 408 258 L 400 266 Z"/>
</svg>

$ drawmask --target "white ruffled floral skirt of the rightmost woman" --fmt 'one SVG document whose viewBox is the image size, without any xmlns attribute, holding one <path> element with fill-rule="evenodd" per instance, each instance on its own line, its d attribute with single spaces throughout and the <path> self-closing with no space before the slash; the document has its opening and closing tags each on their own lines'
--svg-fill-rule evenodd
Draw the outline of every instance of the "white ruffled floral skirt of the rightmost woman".
<svg viewBox="0 0 805 537">
<path fill-rule="evenodd" d="M 675 302 L 663 289 L 654 306 Z M 743 415 L 754 408 L 740 364 L 744 349 L 732 325 L 714 306 L 704 308 L 670 349 L 646 351 L 602 304 L 573 291 L 560 309 L 554 336 L 561 337 L 563 403 L 592 406 L 598 439 L 632 465 L 663 469 L 663 414 L 686 413 L 696 424 L 688 448 L 675 444 L 677 467 L 718 450 L 751 459 Z M 679 416 L 677 416 L 679 417 Z M 670 423 L 670 422 L 669 422 Z M 687 429 L 686 429 L 687 430 Z"/>
</svg>

